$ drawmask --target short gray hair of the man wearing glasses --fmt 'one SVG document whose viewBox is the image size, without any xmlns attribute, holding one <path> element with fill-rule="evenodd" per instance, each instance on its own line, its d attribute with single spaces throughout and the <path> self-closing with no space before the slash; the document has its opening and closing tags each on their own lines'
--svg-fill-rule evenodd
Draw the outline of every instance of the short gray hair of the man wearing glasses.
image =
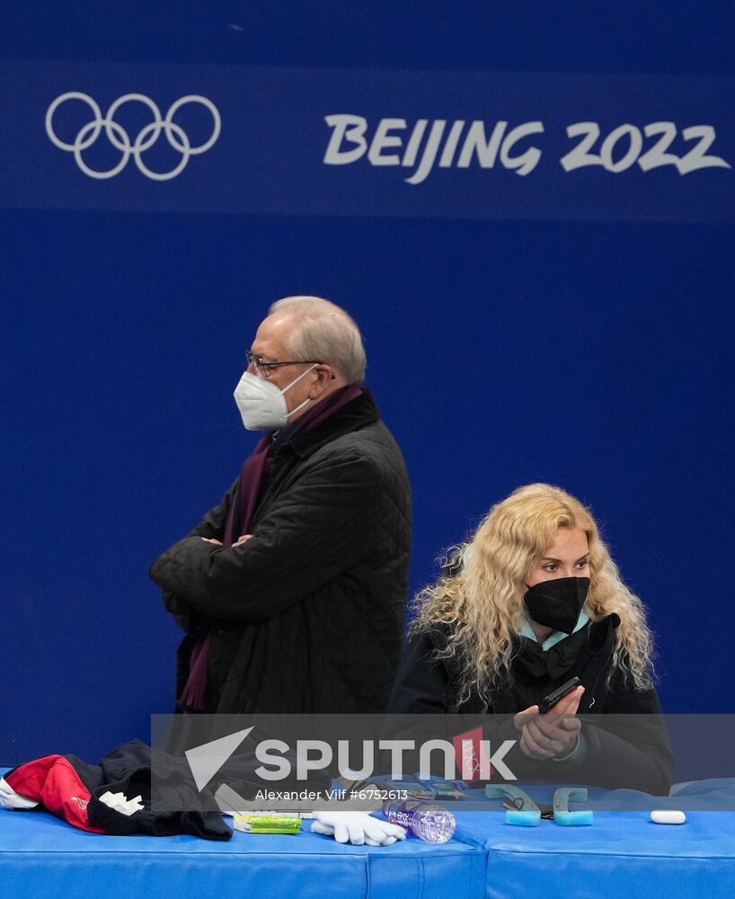
<svg viewBox="0 0 735 899">
<path fill-rule="evenodd" d="M 286 297 L 268 310 L 288 313 L 296 327 L 288 338 L 288 352 L 296 359 L 318 359 L 347 378 L 350 384 L 365 380 L 365 349 L 358 325 L 350 316 L 321 297 Z"/>
</svg>

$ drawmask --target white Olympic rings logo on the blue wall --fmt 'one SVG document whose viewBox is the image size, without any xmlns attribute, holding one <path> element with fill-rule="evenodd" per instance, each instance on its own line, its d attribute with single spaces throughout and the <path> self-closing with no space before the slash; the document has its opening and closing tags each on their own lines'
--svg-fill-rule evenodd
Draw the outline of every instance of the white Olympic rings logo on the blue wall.
<svg viewBox="0 0 735 899">
<path fill-rule="evenodd" d="M 74 142 L 71 144 L 67 144 L 58 137 L 53 124 L 54 113 L 58 110 L 58 107 L 67 100 L 81 100 L 85 102 L 93 112 L 93 120 L 87 122 L 86 125 L 83 125 L 83 127 L 79 129 Z M 140 129 L 135 140 L 131 140 L 128 132 L 114 119 L 115 113 L 120 109 L 120 106 L 122 106 L 123 103 L 129 102 L 143 103 L 151 112 L 153 112 L 154 116 L 152 122 Z M 212 133 L 208 140 L 203 144 L 200 144 L 199 147 L 192 147 L 186 131 L 182 129 L 181 125 L 177 125 L 176 122 L 173 121 L 173 116 L 186 103 L 200 103 L 212 116 Z M 115 102 L 111 103 L 107 114 L 103 116 L 99 105 L 94 102 L 89 94 L 80 93 L 79 91 L 69 91 L 68 93 L 62 93 L 58 96 L 56 100 L 51 103 L 46 112 L 46 133 L 49 135 L 51 143 L 60 150 L 66 151 L 66 153 L 73 153 L 76 165 L 79 166 L 84 174 L 88 175 L 90 178 L 97 178 L 99 180 L 114 178 L 116 174 L 120 174 L 125 166 L 128 165 L 128 160 L 130 156 L 132 156 L 135 159 L 138 171 L 145 174 L 146 178 L 151 178 L 153 181 L 171 181 L 176 175 L 182 174 L 191 156 L 199 156 L 199 154 L 206 153 L 208 149 L 214 147 L 217 143 L 221 127 L 222 120 L 219 111 L 217 110 L 217 106 L 215 106 L 211 100 L 208 100 L 207 97 L 199 96 L 197 93 L 187 94 L 187 96 L 181 97 L 179 100 L 173 102 L 163 119 L 161 118 L 161 111 L 155 105 L 155 102 L 153 102 L 150 97 L 146 97 L 143 93 L 126 93 L 124 96 L 119 97 Z M 89 165 L 84 162 L 82 156 L 84 150 L 88 147 L 92 147 L 94 141 L 100 137 L 102 129 L 104 129 L 105 135 L 111 145 L 115 147 L 115 149 L 120 150 L 120 153 L 122 154 L 122 156 L 120 156 L 120 162 L 106 172 L 98 172 L 97 170 L 90 168 Z M 170 172 L 164 172 L 163 174 L 152 171 L 143 162 L 143 154 L 147 149 L 153 147 L 156 140 L 161 137 L 162 131 L 173 149 L 177 150 L 182 155 L 180 162 L 175 165 Z"/>
</svg>

